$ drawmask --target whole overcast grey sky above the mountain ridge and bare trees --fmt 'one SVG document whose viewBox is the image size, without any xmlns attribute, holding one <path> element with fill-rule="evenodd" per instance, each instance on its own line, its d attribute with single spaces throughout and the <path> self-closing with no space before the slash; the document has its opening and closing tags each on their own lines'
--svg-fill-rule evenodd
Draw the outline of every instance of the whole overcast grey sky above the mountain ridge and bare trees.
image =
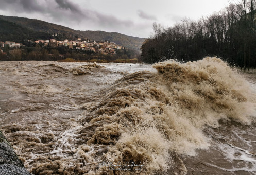
<svg viewBox="0 0 256 175">
<path fill-rule="evenodd" d="M 103 30 L 148 38 L 153 22 L 172 26 L 228 6 L 228 0 L 1 0 L 0 14 L 28 17 L 76 30 Z"/>
</svg>

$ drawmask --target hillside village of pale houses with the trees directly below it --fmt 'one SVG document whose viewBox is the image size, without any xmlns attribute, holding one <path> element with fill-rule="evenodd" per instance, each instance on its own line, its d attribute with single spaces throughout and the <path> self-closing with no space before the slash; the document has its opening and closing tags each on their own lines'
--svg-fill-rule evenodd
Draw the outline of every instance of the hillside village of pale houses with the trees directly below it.
<svg viewBox="0 0 256 175">
<path fill-rule="evenodd" d="M 67 39 L 0 41 L 0 61 L 138 62 L 140 53 L 110 41 Z"/>
</svg>

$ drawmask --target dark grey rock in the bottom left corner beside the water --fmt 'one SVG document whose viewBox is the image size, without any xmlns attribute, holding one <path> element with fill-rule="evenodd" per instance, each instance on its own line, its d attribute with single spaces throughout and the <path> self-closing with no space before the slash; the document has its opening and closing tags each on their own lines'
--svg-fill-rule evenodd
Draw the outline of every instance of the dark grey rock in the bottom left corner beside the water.
<svg viewBox="0 0 256 175">
<path fill-rule="evenodd" d="M 0 131 L 0 175 L 31 175 Z"/>
</svg>

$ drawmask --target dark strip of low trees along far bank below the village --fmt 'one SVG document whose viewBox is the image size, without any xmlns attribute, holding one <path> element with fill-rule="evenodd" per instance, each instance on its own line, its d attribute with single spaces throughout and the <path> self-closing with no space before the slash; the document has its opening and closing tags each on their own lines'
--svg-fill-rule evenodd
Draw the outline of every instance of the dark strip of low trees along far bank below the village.
<svg viewBox="0 0 256 175">
<path fill-rule="evenodd" d="M 58 61 L 66 58 L 86 61 L 91 59 L 113 61 L 117 59 L 140 58 L 140 53 L 132 49 L 116 49 L 116 55 L 95 54 L 94 51 L 83 51 L 69 47 L 42 47 L 40 45 L 28 44 L 22 48 L 4 47 L 4 53 L 0 52 L 0 61 L 22 61 L 22 60 L 47 60 Z M 6 54 L 5 54 L 6 53 Z"/>
</svg>

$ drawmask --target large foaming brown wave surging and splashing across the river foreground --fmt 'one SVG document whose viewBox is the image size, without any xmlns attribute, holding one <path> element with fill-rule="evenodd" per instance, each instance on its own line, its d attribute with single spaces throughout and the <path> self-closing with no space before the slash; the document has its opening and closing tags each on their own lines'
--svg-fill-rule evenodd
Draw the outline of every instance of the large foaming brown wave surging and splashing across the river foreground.
<svg viewBox="0 0 256 175">
<path fill-rule="evenodd" d="M 255 121 L 255 94 L 226 62 L 207 57 L 153 67 L 157 73 L 128 74 L 91 94 L 77 105 L 82 115 L 67 119 L 60 135 L 24 127 L 10 134 L 25 165 L 35 174 L 185 174 L 181 156 L 195 156 L 196 150 L 210 146 L 205 128 L 221 127 L 220 121 Z M 89 71 L 93 75 L 95 69 Z M 89 71 L 82 67 L 81 74 Z M 31 152 L 22 152 L 22 147 Z M 118 170 L 127 163 L 138 166 Z"/>
</svg>

